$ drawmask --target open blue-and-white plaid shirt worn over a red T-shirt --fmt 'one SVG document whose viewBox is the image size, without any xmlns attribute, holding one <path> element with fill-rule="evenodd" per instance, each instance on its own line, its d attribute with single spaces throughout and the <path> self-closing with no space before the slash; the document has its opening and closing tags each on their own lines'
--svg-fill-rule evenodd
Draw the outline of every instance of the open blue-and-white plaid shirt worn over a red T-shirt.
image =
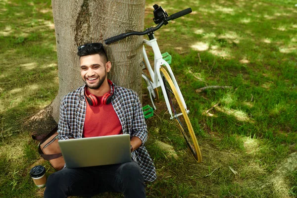
<svg viewBox="0 0 297 198">
<path fill-rule="evenodd" d="M 132 159 L 139 164 L 144 180 L 154 181 L 156 179 L 155 168 L 147 149 L 143 146 L 148 139 L 148 131 L 138 95 L 133 90 L 113 85 L 112 106 L 121 122 L 123 134 L 136 136 L 143 143 L 141 147 L 132 152 Z M 85 85 L 67 94 L 61 101 L 58 124 L 60 140 L 71 137 L 82 138 L 87 109 L 84 89 Z M 107 121 L 106 124 L 108 124 Z"/>
</svg>

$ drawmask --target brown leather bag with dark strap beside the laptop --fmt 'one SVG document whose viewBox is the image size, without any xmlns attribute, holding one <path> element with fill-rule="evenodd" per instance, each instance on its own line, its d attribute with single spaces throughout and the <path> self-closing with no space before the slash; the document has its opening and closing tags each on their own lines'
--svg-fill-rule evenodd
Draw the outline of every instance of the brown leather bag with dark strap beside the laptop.
<svg viewBox="0 0 297 198">
<path fill-rule="evenodd" d="M 32 136 L 34 140 L 41 140 L 38 146 L 39 154 L 49 163 L 55 170 L 61 170 L 65 161 L 58 145 L 58 126 L 56 126 L 46 137 Z"/>
</svg>

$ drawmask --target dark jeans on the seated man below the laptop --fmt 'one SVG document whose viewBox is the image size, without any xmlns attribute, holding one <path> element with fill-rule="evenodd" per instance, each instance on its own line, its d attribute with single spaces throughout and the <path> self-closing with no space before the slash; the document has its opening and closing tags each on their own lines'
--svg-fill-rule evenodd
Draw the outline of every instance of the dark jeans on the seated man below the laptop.
<svg viewBox="0 0 297 198">
<path fill-rule="evenodd" d="M 146 185 L 135 162 L 64 168 L 47 180 L 44 198 L 91 197 L 103 192 L 121 192 L 125 198 L 146 198 Z"/>
</svg>

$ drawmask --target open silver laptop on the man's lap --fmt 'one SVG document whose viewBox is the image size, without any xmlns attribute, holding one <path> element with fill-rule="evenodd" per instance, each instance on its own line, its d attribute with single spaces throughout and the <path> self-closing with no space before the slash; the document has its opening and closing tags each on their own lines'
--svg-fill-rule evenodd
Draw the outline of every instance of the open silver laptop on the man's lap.
<svg viewBox="0 0 297 198">
<path fill-rule="evenodd" d="M 68 168 L 131 161 L 129 134 L 59 140 L 58 143 Z"/>
</svg>

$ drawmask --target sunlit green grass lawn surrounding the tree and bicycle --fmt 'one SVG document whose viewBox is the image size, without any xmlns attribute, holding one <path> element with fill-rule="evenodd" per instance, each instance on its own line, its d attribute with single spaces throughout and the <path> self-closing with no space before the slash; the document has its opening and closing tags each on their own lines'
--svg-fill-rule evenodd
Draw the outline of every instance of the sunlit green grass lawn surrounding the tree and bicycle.
<svg viewBox="0 0 297 198">
<path fill-rule="evenodd" d="M 161 51 L 172 55 L 203 161 L 192 159 L 160 95 L 147 120 L 146 147 L 158 175 L 147 185 L 148 197 L 297 197 L 296 169 L 280 186 L 268 181 L 297 151 L 296 2 L 147 0 L 145 27 L 154 26 L 154 3 L 169 15 L 193 9 L 155 36 Z M 40 198 L 44 188 L 34 186 L 30 167 L 44 165 L 47 176 L 54 170 L 40 160 L 38 143 L 22 125 L 58 91 L 51 1 L 1 1 L 0 10 L 0 197 Z M 195 92 L 211 85 L 233 88 Z"/>
</svg>

